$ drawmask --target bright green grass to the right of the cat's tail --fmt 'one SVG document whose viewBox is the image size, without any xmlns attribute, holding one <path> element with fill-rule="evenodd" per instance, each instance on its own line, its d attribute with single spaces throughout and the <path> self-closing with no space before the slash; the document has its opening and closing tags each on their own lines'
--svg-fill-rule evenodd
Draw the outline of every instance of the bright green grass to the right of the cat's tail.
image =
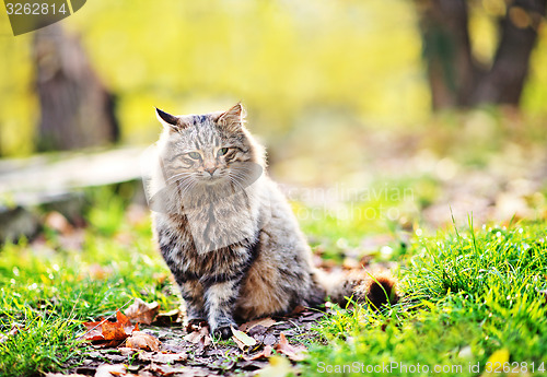
<svg viewBox="0 0 547 377">
<path fill-rule="evenodd" d="M 446 368 L 443 376 L 477 376 L 488 362 L 500 363 L 500 370 L 504 363 L 514 372 L 527 365 L 531 375 L 534 363 L 542 375 L 538 368 L 547 368 L 545 236 L 540 223 L 472 226 L 416 239 L 414 256 L 400 269 L 405 299 L 382 314 L 336 310 L 321 328 L 328 345 L 312 349 L 304 375 L 324 375 L 337 365 L 340 375 L 360 375 L 363 365 L 389 365 L 369 375 L 429 376 L 439 365 Z M 479 370 L 470 369 L 477 363 Z"/>
</svg>

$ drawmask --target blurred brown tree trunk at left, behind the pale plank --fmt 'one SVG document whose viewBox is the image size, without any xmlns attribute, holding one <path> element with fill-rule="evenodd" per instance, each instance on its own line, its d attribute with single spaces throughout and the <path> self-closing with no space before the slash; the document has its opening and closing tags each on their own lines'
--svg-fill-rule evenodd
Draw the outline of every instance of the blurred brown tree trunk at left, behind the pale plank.
<svg viewBox="0 0 547 377">
<path fill-rule="evenodd" d="M 118 139 L 114 96 L 101 83 L 75 37 L 56 24 L 36 32 L 40 151 L 102 145 Z"/>
</svg>

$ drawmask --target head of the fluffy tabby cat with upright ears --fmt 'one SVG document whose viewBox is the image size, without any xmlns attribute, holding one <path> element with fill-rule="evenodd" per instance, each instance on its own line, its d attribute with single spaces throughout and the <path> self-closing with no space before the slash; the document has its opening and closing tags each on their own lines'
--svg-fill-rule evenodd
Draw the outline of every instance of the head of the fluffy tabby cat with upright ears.
<svg viewBox="0 0 547 377">
<path fill-rule="evenodd" d="M 261 174 L 264 153 L 244 127 L 241 104 L 206 115 L 173 116 L 156 108 L 156 116 L 164 128 L 159 146 L 167 182 L 246 187 Z"/>
</svg>

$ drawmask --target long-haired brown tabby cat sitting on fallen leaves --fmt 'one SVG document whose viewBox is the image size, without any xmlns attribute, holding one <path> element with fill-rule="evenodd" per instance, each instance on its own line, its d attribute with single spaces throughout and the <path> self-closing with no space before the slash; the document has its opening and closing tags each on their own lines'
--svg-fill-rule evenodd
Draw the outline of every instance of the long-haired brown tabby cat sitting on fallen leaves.
<svg viewBox="0 0 547 377">
<path fill-rule="evenodd" d="M 181 287 L 187 320 L 207 320 L 226 339 L 236 321 L 316 307 L 346 297 L 380 307 L 396 301 L 389 276 L 328 275 L 313 267 L 295 216 L 266 173 L 264 148 L 245 110 L 173 116 L 151 179 L 153 233 Z"/>
</svg>

